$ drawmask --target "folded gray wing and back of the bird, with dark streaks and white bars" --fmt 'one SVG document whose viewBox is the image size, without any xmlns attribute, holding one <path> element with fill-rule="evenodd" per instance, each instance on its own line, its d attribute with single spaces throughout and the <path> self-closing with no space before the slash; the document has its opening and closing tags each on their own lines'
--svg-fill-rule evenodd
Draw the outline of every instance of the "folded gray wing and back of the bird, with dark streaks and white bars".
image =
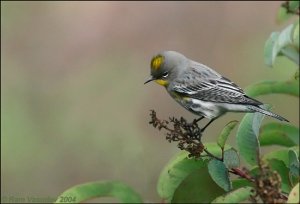
<svg viewBox="0 0 300 204">
<path fill-rule="evenodd" d="M 261 105 L 245 95 L 244 91 L 229 79 L 209 67 L 193 62 L 170 86 L 171 91 L 191 98 L 218 103 Z"/>
</svg>

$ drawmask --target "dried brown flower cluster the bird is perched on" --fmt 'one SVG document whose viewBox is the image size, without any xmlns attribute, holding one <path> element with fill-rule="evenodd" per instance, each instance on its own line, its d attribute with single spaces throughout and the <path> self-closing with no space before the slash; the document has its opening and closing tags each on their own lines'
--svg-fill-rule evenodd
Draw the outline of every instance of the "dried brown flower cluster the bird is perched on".
<svg viewBox="0 0 300 204">
<path fill-rule="evenodd" d="M 151 121 L 149 123 L 159 130 L 165 129 L 167 131 L 166 139 L 169 142 L 178 142 L 178 148 L 188 151 L 189 157 L 200 157 L 204 151 L 204 146 L 201 142 L 201 128 L 199 128 L 196 120 L 192 123 L 188 123 L 183 117 L 180 119 L 172 117 L 169 118 L 169 121 L 160 120 L 156 117 L 154 110 L 151 110 L 150 116 Z"/>
</svg>

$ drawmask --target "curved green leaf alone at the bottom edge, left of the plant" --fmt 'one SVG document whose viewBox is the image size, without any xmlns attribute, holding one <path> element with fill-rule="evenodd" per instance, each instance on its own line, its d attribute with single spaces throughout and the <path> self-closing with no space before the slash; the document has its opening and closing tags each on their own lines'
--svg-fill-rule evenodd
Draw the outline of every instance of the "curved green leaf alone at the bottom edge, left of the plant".
<svg viewBox="0 0 300 204">
<path fill-rule="evenodd" d="M 90 182 L 73 186 L 63 192 L 56 203 L 65 203 L 62 198 L 71 198 L 71 203 L 81 203 L 96 197 L 115 197 L 122 203 L 142 203 L 141 197 L 129 186 L 117 181 Z"/>
</svg>

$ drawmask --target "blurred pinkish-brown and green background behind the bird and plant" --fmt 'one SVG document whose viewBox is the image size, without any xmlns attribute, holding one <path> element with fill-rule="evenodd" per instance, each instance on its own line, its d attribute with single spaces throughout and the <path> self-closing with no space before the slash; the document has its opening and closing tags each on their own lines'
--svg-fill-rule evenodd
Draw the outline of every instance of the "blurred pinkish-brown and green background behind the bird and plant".
<svg viewBox="0 0 300 204">
<path fill-rule="evenodd" d="M 242 88 L 287 80 L 294 64 L 279 58 L 271 69 L 263 62 L 266 39 L 288 24 L 276 23 L 279 6 L 1 1 L 1 195 L 56 198 L 73 185 L 118 180 L 159 202 L 159 173 L 179 149 L 148 124 L 149 110 L 160 118 L 195 116 L 164 88 L 143 84 L 150 59 L 176 50 Z M 259 99 L 299 123 L 297 98 Z M 204 142 L 243 115 L 214 122 Z"/>
</svg>

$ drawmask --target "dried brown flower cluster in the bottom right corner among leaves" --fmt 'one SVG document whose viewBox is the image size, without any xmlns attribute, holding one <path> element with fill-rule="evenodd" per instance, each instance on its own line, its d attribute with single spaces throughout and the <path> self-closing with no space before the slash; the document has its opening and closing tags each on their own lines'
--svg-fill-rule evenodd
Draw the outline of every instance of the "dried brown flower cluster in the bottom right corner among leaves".
<svg viewBox="0 0 300 204">
<path fill-rule="evenodd" d="M 259 174 L 255 177 L 253 203 L 285 203 L 286 197 L 281 193 L 281 177 L 266 164 L 259 162 Z"/>
</svg>

